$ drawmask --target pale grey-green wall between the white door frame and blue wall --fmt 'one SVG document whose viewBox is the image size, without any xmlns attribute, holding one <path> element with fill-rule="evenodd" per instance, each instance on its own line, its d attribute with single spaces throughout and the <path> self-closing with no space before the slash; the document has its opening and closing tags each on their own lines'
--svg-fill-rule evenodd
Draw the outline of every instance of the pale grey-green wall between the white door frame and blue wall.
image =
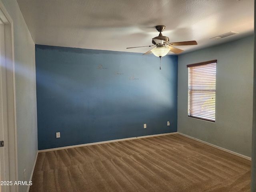
<svg viewBox="0 0 256 192">
<path fill-rule="evenodd" d="M 13 20 L 14 29 L 18 180 L 24 180 L 26 169 L 29 181 L 38 152 L 35 44 L 16 0 L 2 0 L 2 3 Z M 28 186 L 19 186 L 19 192 L 27 189 Z"/>
</svg>

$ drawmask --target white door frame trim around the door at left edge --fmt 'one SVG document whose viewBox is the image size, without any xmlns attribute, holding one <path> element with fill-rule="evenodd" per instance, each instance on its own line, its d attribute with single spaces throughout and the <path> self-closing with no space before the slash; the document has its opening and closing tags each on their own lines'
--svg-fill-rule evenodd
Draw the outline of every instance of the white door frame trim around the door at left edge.
<svg viewBox="0 0 256 192">
<path fill-rule="evenodd" d="M 17 135 L 16 135 L 16 98 L 15 98 L 15 70 L 14 70 L 14 38 L 13 21 L 4 4 L 0 0 L 0 19 L 4 22 L 4 54 L 6 67 L 6 100 L 7 100 L 7 118 L 4 128 L 4 136 L 7 137 L 8 151 L 4 154 L 8 159 L 5 167 L 5 180 L 18 181 L 18 158 L 17 158 Z M 6 187 L 6 192 L 18 192 L 18 185 Z"/>
</svg>

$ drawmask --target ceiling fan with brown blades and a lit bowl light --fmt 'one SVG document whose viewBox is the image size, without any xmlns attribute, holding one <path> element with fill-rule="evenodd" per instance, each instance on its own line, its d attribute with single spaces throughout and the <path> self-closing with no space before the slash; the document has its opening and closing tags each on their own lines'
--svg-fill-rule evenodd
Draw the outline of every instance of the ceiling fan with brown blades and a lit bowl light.
<svg viewBox="0 0 256 192">
<path fill-rule="evenodd" d="M 162 31 L 165 29 L 164 25 L 158 25 L 156 26 L 156 30 L 158 30 L 159 35 L 157 37 L 152 38 L 152 43 L 154 45 L 150 46 L 140 46 L 140 47 L 155 47 L 148 52 L 144 53 L 143 55 L 150 54 L 151 52 L 157 56 L 160 57 L 160 69 L 161 69 L 161 57 L 168 54 L 168 52 L 174 52 L 176 54 L 180 54 L 184 50 L 175 48 L 173 46 L 182 46 L 182 45 L 197 45 L 196 41 L 183 41 L 183 42 L 172 42 L 169 43 L 169 38 L 162 35 Z M 139 47 L 128 47 L 126 49 L 131 48 L 139 48 Z"/>
</svg>

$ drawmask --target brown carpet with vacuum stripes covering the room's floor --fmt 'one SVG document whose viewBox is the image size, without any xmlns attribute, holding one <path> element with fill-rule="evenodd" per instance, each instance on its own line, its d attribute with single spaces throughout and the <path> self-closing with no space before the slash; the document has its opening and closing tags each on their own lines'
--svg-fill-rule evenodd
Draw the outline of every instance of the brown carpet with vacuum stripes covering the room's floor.
<svg viewBox="0 0 256 192">
<path fill-rule="evenodd" d="M 250 164 L 171 134 L 40 152 L 30 192 L 250 192 Z"/>
</svg>

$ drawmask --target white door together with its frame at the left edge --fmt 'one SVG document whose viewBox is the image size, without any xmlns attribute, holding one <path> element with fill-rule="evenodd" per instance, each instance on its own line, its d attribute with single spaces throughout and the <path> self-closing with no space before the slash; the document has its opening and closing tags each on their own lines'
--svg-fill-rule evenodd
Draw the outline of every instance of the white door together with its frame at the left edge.
<svg viewBox="0 0 256 192">
<path fill-rule="evenodd" d="M 0 0 L 0 192 L 16 192 L 18 178 L 13 21 Z M 12 182 L 12 183 L 11 183 Z"/>
</svg>

